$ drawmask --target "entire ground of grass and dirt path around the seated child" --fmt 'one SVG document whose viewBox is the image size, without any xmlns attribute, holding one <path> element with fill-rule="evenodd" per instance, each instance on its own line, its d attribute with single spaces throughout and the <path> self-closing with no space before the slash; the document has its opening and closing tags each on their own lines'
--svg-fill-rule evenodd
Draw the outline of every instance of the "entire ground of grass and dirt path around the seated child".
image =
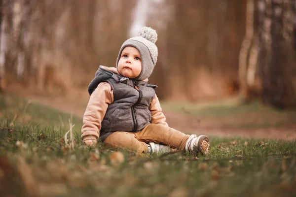
<svg viewBox="0 0 296 197">
<path fill-rule="evenodd" d="M 148 155 L 83 145 L 85 102 L 46 102 L 0 94 L 0 196 L 296 196 L 293 111 L 162 102 L 171 127 L 211 135 L 211 153 Z"/>
</svg>

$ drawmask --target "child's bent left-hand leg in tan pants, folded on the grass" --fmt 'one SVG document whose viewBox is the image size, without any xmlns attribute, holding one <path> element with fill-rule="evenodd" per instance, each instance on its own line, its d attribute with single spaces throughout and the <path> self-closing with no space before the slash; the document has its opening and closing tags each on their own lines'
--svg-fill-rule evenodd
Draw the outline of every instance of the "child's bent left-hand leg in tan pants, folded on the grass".
<svg viewBox="0 0 296 197">
<path fill-rule="evenodd" d="M 109 135 L 104 143 L 112 148 L 127 148 L 138 153 L 148 153 L 148 145 L 135 138 L 134 132 L 117 131 Z"/>
</svg>

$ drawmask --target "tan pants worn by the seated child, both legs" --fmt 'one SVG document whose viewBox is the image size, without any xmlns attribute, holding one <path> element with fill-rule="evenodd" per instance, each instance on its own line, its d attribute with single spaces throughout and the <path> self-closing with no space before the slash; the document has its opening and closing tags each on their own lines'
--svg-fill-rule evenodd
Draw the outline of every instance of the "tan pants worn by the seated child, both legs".
<svg viewBox="0 0 296 197">
<path fill-rule="evenodd" d="M 138 153 L 148 153 L 149 142 L 162 143 L 179 150 L 185 149 L 190 135 L 161 124 L 149 124 L 142 131 L 116 131 L 104 143 L 113 148 L 127 148 Z"/>
</svg>

